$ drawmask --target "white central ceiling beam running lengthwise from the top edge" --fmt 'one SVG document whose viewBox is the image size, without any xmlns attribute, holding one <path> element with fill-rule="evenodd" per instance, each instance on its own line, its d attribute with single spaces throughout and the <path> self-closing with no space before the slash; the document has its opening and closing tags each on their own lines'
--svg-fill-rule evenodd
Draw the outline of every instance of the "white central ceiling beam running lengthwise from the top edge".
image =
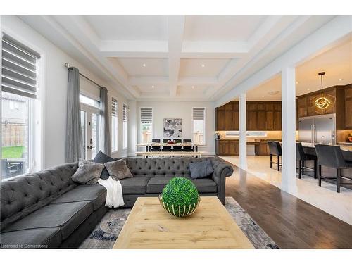
<svg viewBox="0 0 352 264">
<path fill-rule="evenodd" d="M 168 17 L 168 65 L 170 96 L 177 94 L 177 81 L 180 72 L 182 42 L 184 34 L 184 15 Z"/>
</svg>

